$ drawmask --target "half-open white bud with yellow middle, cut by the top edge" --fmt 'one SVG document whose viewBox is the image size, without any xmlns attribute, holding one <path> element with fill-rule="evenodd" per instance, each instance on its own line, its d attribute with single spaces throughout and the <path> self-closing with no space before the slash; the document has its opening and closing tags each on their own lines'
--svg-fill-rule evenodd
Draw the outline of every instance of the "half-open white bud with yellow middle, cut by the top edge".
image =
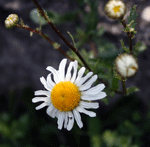
<svg viewBox="0 0 150 147">
<path fill-rule="evenodd" d="M 125 4 L 120 0 L 110 0 L 105 6 L 105 13 L 112 19 L 122 19 L 126 12 Z"/>
</svg>

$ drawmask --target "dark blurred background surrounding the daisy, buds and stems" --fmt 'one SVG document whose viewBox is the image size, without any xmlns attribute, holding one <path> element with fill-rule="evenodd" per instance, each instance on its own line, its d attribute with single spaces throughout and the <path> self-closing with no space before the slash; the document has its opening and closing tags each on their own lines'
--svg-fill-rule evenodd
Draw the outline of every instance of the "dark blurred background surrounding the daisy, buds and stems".
<svg viewBox="0 0 150 147">
<path fill-rule="evenodd" d="M 122 53 L 120 40 L 128 46 L 122 25 L 104 13 L 103 0 L 38 0 L 47 10 L 60 32 L 83 52 L 101 50 L 105 59 Z M 39 78 L 46 77 L 47 66 L 58 69 L 64 58 L 53 46 L 37 34 L 13 28 L 6 29 L 4 21 L 15 13 L 23 22 L 36 29 L 36 10 L 32 0 L 0 1 L 0 147 L 147 147 L 150 144 L 150 1 L 126 0 L 127 13 L 137 5 L 137 34 L 133 44 L 142 41 L 138 55 L 139 71 L 127 80 L 127 87 L 137 86 L 140 91 L 130 96 L 108 95 L 100 101 L 96 118 L 82 115 L 84 127 L 57 129 L 57 120 L 46 114 L 46 108 L 35 110 L 31 102 L 35 90 L 44 89 Z M 69 51 L 50 26 L 42 22 L 42 32 Z M 113 47 L 113 50 L 112 50 Z M 89 54 L 96 56 L 95 54 Z M 121 86 L 121 85 L 120 85 Z"/>
</svg>

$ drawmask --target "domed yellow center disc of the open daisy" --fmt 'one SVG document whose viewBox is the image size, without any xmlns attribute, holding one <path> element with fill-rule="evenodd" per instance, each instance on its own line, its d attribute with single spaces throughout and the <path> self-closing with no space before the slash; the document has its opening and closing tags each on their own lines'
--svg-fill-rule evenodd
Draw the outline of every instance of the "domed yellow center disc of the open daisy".
<svg viewBox="0 0 150 147">
<path fill-rule="evenodd" d="M 52 104 L 60 111 L 72 111 L 80 102 L 80 92 L 70 81 L 60 82 L 51 91 Z"/>
</svg>

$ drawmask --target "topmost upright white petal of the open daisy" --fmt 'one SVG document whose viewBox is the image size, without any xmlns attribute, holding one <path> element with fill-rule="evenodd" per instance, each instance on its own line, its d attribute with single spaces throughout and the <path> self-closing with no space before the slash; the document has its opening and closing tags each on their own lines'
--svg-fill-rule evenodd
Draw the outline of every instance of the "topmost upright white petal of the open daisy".
<svg viewBox="0 0 150 147">
<path fill-rule="evenodd" d="M 60 64 L 59 64 L 59 75 L 60 75 L 60 80 L 64 81 L 64 76 L 65 76 L 65 66 L 67 63 L 67 59 L 63 59 Z"/>
</svg>

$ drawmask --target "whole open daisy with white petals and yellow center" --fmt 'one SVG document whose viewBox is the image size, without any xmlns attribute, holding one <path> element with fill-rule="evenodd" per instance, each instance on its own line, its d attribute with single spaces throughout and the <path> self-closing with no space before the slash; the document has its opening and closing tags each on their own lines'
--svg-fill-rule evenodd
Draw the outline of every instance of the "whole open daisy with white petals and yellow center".
<svg viewBox="0 0 150 147">
<path fill-rule="evenodd" d="M 66 62 L 67 59 L 63 59 L 58 70 L 51 66 L 46 68 L 51 73 L 46 80 L 44 77 L 41 77 L 40 80 L 47 91 L 35 91 L 35 95 L 45 95 L 46 97 L 34 97 L 32 102 L 44 101 L 36 107 L 36 110 L 48 106 L 46 113 L 52 118 L 58 118 L 58 129 L 62 129 L 64 125 L 64 128 L 71 130 L 74 119 L 80 128 L 83 127 L 80 113 L 87 114 L 90 117 L 96 116 L 95 112 L 86 109 L 98 108 L 99 104 L 91 101 L 106 97 L 106 93 L 102 92 L 105 88 L 104 84 L 98 84 L 90 88 L 97 80 L 97 75 L 92 76 L 93 72 L 89 72 L 83 77 L 85 67 L 77 72 L 78 63 L 76 60 L 69 64 L 65 74 Z M 51 77 L 52 74 L 53 78 Z"/>
</svg>

